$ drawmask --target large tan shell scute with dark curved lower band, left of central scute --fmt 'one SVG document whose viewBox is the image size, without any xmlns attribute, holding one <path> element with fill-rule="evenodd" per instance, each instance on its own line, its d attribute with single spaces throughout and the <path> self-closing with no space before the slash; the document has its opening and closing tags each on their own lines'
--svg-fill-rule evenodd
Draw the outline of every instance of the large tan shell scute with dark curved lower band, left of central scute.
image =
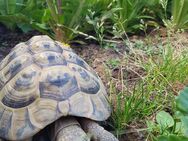
<svg viewBox="0 0 188 141">
<path fill-rule="evenodd" d="M 11 108 L 22 108 L 33 103 L 39 97 L 39 76 L 40 71 L 34 65 L 19 72 L 0 91 L 1 102 Z"/>
</svg>

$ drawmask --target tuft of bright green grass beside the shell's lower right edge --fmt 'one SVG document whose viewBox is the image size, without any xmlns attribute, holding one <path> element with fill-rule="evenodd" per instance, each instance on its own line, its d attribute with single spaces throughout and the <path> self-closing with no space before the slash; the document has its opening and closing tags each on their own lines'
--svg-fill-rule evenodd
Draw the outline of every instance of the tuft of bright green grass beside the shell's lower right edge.
<svg viewBox="0 0 188 141">
<path fill-rule="evenodd" d="M 155 103 L 150 102 L 147 92 L 145 92 L 144 83 L 140 82 L 134 85 L 132 90 L 127 88 L 116 92 L 115 86 L 111 86 L 110 95 L 116 94 L 112 98 L 113 112 L 110 118 L 111 126 L 115 130 L 118 137 L 125 134 L 126 127 L 135 121 L 142 122 L 142 120 L 149 116 L 154 110 Z"/>
</svg>

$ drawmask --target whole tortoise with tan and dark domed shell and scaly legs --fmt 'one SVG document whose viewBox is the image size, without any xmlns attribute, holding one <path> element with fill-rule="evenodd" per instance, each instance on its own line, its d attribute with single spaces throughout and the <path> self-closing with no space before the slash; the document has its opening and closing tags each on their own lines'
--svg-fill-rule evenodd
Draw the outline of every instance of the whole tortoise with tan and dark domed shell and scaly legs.
<svg viewBox="0 0 188 141">
<path fill-rule="evenodd" d="M 0 140 L 29 141 L 53 124 L 51 140 L 117 141 L 96 122 L 110 114 L 99 76 L 47 35 L 19 43 L 0 63 Z"/>
</svg>

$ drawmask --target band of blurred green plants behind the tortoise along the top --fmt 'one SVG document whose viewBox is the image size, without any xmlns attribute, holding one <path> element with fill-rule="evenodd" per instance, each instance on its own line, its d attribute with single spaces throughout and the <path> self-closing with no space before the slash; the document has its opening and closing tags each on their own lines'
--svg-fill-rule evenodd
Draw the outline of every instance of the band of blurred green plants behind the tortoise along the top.
<svg viewBox="0 0 188 141">
<path fill-rule="evenodd" d="M 64 42 L 78 36 L 101 46 L 159 27 L 188 29 L 188 0 L 0 0 L 0 22 Z"/>
</svg>

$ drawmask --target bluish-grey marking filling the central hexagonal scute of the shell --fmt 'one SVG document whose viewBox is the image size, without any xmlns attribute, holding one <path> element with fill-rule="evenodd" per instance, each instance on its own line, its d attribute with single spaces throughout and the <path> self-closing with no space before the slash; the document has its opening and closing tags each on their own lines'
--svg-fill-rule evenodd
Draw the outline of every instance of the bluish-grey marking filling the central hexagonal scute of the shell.
<svg viewBox="0 0 188 141">
<path fill-rule="evenodd" d="M 59 74 L 56 77 L 47 76 L 46 82 L 40 82 L 39 87 L 42 98 L 50 98 L 56 101 L 67 100 L 79 92 L 76 78 L 68 73 Z"/>
</svg>

